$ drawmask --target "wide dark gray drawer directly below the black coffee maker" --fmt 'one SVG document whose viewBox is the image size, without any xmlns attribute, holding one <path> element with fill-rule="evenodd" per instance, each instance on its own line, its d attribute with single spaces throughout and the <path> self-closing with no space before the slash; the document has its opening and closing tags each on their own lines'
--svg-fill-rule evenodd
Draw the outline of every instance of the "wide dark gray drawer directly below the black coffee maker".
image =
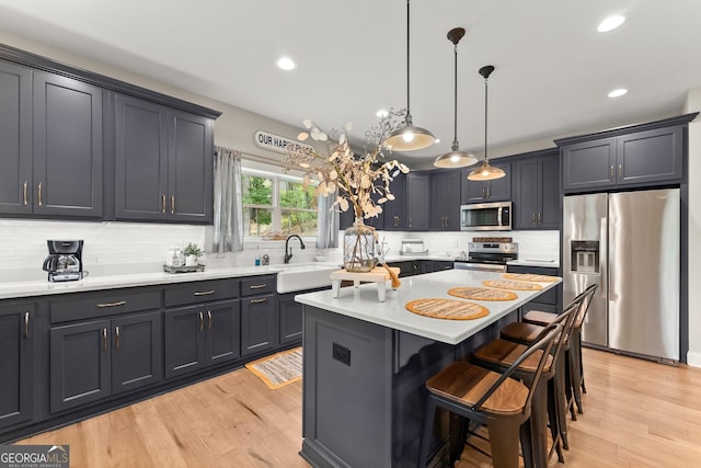
<svg viewBox="0 0 701 468">
<path fill-rule="evenodd" d="M 53 299 L 50 304 L 50 316 L 51 323 L 60 323 L 71 320 L 152 310 L 159 309 L 160 307 L 160 289 L 114 289 L 71 295 L 70 298 Z"/>
</svg>

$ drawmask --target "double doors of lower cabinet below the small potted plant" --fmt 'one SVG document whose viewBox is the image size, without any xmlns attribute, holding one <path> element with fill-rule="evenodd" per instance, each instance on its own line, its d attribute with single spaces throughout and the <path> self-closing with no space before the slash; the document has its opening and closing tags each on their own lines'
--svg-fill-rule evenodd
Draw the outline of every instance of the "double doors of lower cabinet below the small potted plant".
<svg viewBox="0 0 701 468">
<path fill-rule="evenodd" d="M 239 299 L 164 312 L 165 378 L 239 357 Z"/>
</svg>

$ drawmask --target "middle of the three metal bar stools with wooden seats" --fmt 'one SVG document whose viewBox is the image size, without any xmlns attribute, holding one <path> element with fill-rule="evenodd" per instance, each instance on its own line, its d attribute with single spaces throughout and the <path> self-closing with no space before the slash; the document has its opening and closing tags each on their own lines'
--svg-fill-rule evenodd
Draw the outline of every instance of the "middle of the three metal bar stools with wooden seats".
<svg viewBox="0 0 701 468">
<path fill-rule="evenodd" d="M 547 466 L 548 459 L 553 452 L 558 453 L 558 460 L 564 463 L 564 456 L 562 454 L 562 446 L 565 443 L 566 431 L 561 427 L 564 424 L 562 414 L 564 411 L 565 401 L 561 391 L 558 391 L 556 377 L 558 373 L 564 372 L 563 362 L 563 347 L 566 334 L 571 333 L 574 319 L 577 312 L 577 304 L 572 305 L 567 310 L 558 317 L 558 320 L 553 323 L 560 323 L 563 327 L 563 332 L 556 338 L 555 345 L 552 349 L 552 353 L 549 361 L 545 363 L 543 369 L 543 376 L 539 383 L 539 387 L 533 397 L 533 408 L 531 411 L 531 431 L 533 434 L 533 459 L 536 466 Z M 542 336 L 542 333 L 547 332 L 547 328 L 541 328 L 540 336 L 536 336 L 532 342 L 537 342 Z M 531 343 L 532 343 L 531 342 Z M 486 367 L 490 370 L 497 373 L 505 372 L 509 368 L 517 356 L 521 355 L 528 346 L 507 340 L 492 340 L 484 346 L 478 349 L 471 355 L 471 362 L 482 367 Z M 521 379 L 527 386 L 532 386 L 533 373 L 536 370 L 535 359 L 538 358 L 538 354 L 531 356 L 530 359 L 525 361 L 518 369 L 514 373 L 514 377 Z M 530 361 L 530 362 L 529 362 Z M 562 413 L 562 414 L 561 414 Z M 548 421 L 550 421 L 550 433 L 552 436 L 552 450 L 548 452 Z"/>
</svg>

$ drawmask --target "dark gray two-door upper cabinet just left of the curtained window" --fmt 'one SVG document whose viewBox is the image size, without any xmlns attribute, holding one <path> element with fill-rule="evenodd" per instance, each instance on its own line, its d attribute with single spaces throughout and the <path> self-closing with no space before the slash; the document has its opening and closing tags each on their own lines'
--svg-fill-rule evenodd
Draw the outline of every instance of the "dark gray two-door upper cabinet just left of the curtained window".
<svg viewBox="0 0 701 468">
<path fill-rule="evenodd" d="M 210 224 L 211 119 L 126 95 L 115 113 L 115 218 Z"/>
</svg>

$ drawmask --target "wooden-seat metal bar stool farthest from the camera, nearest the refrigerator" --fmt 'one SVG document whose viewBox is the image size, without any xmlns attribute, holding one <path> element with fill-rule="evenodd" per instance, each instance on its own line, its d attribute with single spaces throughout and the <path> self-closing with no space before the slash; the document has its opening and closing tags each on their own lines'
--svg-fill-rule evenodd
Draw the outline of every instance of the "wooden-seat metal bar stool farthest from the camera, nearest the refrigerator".
<svg viewBox="0 0 701 468">
<path fill-rule="evenodd" d="M 587 310 L 589 310 L 589 304 L 591 303 L 591 298 L 594 297 L 597 287 L 597 284 L 589 285 L 579 295 L 582 297 L 582 306 L 579 308 L 577 319 L 575 320 L 572 334 L 570 335 L 570 340 L 572 342 L 570 352 L 567 353 L 567 361 L 570 364 L 570 379 L 572 381 L 572 393 L 574 397 L 574 402 L 577 406 L 577 412 L 579 414 L 583 413 L 582 392 L 587 392 L 586 386 L 584 384 L 584 365 L 582 362 L 582 326 L 584 323 L 584 319 L 586 318 Z M 543 312 L 541 310 L 530 310 L 524 316 L 522 322 L 545 327 L 552 323 L 556 317 L 556 313 Z"/>
</svg>

